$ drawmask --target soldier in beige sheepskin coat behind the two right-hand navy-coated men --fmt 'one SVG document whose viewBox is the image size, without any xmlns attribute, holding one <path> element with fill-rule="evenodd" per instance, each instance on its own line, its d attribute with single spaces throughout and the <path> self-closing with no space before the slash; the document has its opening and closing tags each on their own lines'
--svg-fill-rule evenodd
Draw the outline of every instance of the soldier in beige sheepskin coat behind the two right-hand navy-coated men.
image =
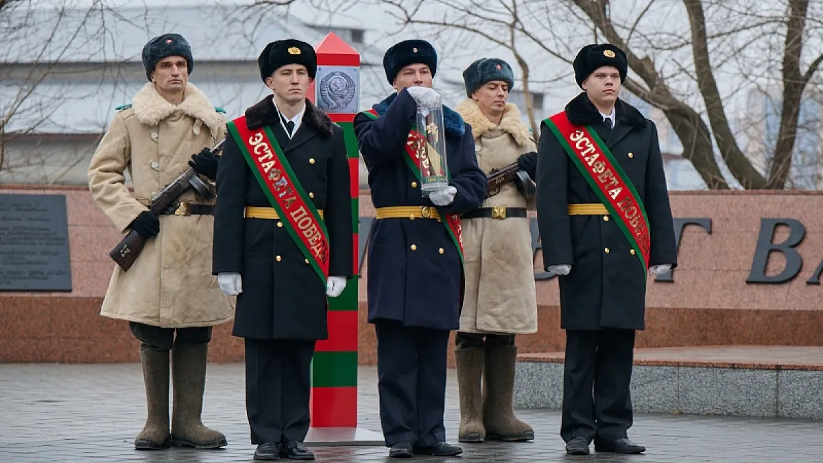
<svg viewBox="0 0 823 463">
<path fill-rule="evenodd" d="M 509 64 L 479 59 L 463 72 L 463 78 L 468 99 L 455 110 L 472 126 L 481 169 L 488 174 L 518 162 L 533 178 L 535 143 L 517 106 L 507 102 L 514 85 Z M 532 428 L 512 409 L 514 335 L 537 332 L 527 208 L 533 204 L 509 183 L 481 208 L 462 216 L 466 291 L 454 351 L 460 442 L 534 438 Z"/>
</svg>

